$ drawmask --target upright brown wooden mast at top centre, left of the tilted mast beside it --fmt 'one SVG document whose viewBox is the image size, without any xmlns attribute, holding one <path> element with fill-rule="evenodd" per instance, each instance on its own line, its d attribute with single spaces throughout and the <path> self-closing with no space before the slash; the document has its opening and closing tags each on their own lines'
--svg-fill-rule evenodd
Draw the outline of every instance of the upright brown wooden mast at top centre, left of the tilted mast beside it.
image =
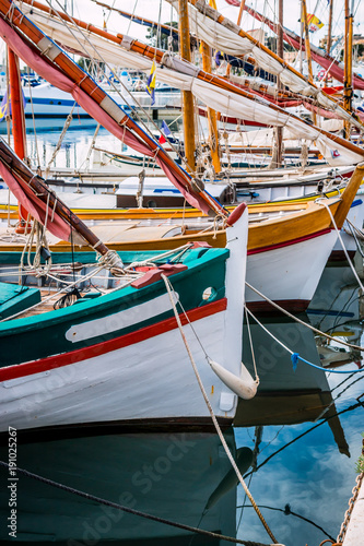
<svg viewBox="0 0 364 546">
<path fill-rule="evenodd" d="M 179 10 L 179 54 L 181 59 L 191 61 L 191 47 L 188 24 L 188 0 L 178 0 Z M 183 120 L 185 136 L 185 156 L 187 169 L 196 170 L 195 161 L 195 104 L 191 91 L 183 91 Z"/>
</svg>

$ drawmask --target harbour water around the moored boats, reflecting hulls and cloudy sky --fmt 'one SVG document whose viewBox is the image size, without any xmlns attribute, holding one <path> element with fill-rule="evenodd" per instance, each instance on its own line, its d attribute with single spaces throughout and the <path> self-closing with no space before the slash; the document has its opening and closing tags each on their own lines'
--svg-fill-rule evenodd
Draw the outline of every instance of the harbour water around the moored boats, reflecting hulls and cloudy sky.
<svg viewBox="0 0 364 546">
<path fill-rule="evenodd" d="M 92 132 L 67 136 L 63 165 L 73 166 L 81 149 L 90 145 Z M 57 133 L 40 135 L 45 157 L 57 140 Z M 349 268 L 334 265 L 325 270 L 308 312 L 300 319 L 337 340 L 363 346 L 362 316 L 360 290 Z M 250 319 L 260 387 L 256 399 L 239 404 L 235 427 L 225 431 L 225 438 L 277 541 L 285 546 L 318 546 L 337 537 L 355 482 L 364 431 L 364 373 L 356 372 L 361 354 L 341 349 L 338 342 L 327 343 L 282 314 L 261 320 L 275 339 Z M 352 371 L 325 372 L 300 360 L 294 370 L 291 354 L 277 340 L 314 365 Z M 243 360 L 253 371 L 246 328 Z M 8 461 L 8 436 L 1 438 L 0 459 Z M 19 434 L 17 465 L 166 520 L 271 543 L 211 432 L 121 435 L 105 428 L 97 434 L 85 429 Z M 0 478 L 1 544 L 228 544 L 124 513 L 20 474 L 17 532 L 12 538 L 8 471 L 0 468 Z"/>
</svg>

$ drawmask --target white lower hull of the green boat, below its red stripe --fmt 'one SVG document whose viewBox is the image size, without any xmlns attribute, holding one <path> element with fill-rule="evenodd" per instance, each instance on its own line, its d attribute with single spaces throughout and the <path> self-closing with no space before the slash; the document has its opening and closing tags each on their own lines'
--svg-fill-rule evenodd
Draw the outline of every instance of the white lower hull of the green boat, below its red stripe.
<svg viewBox="0 0 364 546">
<path fill-rule="evenodd" d="M 198 336 L 208 340 L 207 353 L 220 361 L 225 318 L 222 311 L 193 322 Z M 185 332 L 214 413 L 232 419 L 237 396 L 212 371 L 191 328 Z M 45 363 L 39 373 L 3 381 L 0 429 L 209 417 L 177 328 L 97 357 L 89 356 L 92 347 L 84 352 L 74 364 L 59 355 L 54 369 Z"/>
</svg>

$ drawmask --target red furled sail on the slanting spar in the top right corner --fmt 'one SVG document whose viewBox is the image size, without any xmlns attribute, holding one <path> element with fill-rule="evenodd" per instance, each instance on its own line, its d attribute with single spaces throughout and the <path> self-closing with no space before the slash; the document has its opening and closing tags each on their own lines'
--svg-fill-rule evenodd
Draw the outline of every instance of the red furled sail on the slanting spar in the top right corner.
<svg viewBox="0 0 364 546">
<path fill-rule="evenodd" d="M 249 5 L 244 7 L 245 11 L 249 13 L 249 15 L 254 16 L 257 21 L 260 21 L 265 23 L 271 31 L 273 31 L 277 34 L 277 25 L 268 19 L 266 15 L 262 15 L 261 13 L 257 12 L 253 8 L 249 8 Z M 294 32 L 290 31 L 289 28 L 285 28 L 283 26 L 283 39 L 293 46 L 295 49 L 301 48 L 301 39 L 300 36 L 297 36 Z M 302 48 L 305 49 L 305 43 L 304 40 L 302 41 Z M 317 62 L 320 67 L 322 67 L 325 70 L 327 70 L 334 80 L 338 80 L 339 82 L 343 83 L 344 81 L 344 66 L 342 62 L 337 61 L 333 57 L 330 55 L 327 55 L 322 49 L 314 46 L 314 44 L 310 44 L 310 55 L 312 58 L 315 62 Z M 355 90 L 364 90 L 364 79 L 359 75 L 353 73 L 353 87 Z"/>
</svg>

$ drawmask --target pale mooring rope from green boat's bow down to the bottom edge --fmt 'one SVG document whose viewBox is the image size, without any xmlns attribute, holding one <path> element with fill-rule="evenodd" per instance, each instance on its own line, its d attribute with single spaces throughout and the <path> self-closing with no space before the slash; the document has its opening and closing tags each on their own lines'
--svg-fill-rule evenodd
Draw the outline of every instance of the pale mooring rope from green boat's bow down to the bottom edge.
<svg viewBox="0 0 364 546">
<path fill-rule="evenodd" d="M 219 425 L 219 423 L 218 423 L 216 416 L 215 416 L 215 414 L 214 414 L 214 412 L 213 412 L 213 410 L 212 410 L 212 406 L 211 406 L 211 403 L 210 403 L 209 396 L 208 396 L 208 394 L 207 394 L 207 392 L 206 392 L 206 390 L 204 390 L 204 387 L 203 387 L 203 383 L 202 383 L 202 380 L 201 380 L 200 373 L 199 373 L 199 371 L 198 371 L 198 369 L 197 369 L 197 366 L 196 366 L 196 363 L 195 363 L 195 359 L 193 359 L 193 356 L 192 356 L 191 349 L 190 349 L 190 347 L 189 347 L 189 345 L 188 345 L 188 342 L 187 342 L 187 339 L 186 339 L 186 335 L 185 335 L 185 332 L 184 332 L 184 329 L 183 329 L 183 324 L 181 324 L 181 321 L 180 321 L 180 318 L 179 318 L 179 314 L 178 314 L 178 311 L 177 311 L 177 307 L 176 307 L 176 304 L 175 304 L 174 298 L 173 298 L 173 293 L 174 293 L 174 289 L 173 289 L 173 286 L 172 286 L 172 284 L 171 284 L 171 281 L 169 281 L 169 280 L 168 280 L 165 275 L 162 275 L 162 278 L 163 278 L 164 283 L 165 283 L 165 286 L 166 286 L 166 289 L 167 289 L 167 293 L 168 293 L 168 297 L 169 297 L 169 300 L 171 300 L 171 305 L 172 305 L 172 308 L 173 308 L 173 311 L 174 311 L 174 314 L 175 314 L 175 318 L 176 318 L 176 321 L 177 321 L 177 325 L 178 325 L 178 329 L 179 329 L 179 332 L 180 332 L 181 339 L 183 339 L 183 341 L 184 341 L 184 344 L 185 344 L 186 351 L 187 351 L 187 353 L 188 353 L 188 356 L 189 356 L 190 363 L 191 363 L 191 365 L 192 365 L 192 368 L 193 368 L 193 371 L 195 371 L 195 375 L 196 375 L 196 378 L 197 378 L 198 384 L 199 384 L 199 387 L 200 387 L 200 390 L 201 390 L 202 396 L 203 396 L 203 399 L 204 399 L 206 405 L 208 406 L 208 410 L 209 410 L 209 412 L 210 412 L 211 419 L 212 419 L 213 425 L 214 425 L 214 427 L 215 427 L 215 429 L 216 429 L 216 432 L 218 432 L 218 435 L 219 435 L 219 438 L 220 438 L 220 440 L 221 440 L 221 443 L 222 443 L 222 446 L 223 446 L 223 448 L 224 448 L 224 450 L 225 450 L 225 453 L 226 453 L 226 455 L 227 455 L 227 458 L 228 458 L 228 460 L 230 460 L 230 462 L 231 462 L 231 464 L 232 464 L 232 466 L 233 466 L 233 468 L 234 468 L 234 471 L 235 471 L 235 474 L 236 474 L 236 476 L 237 476 L 237 478 L 238 478 L 239 483 L 242 484 L 242 486 L 243 486 L 243 488 L 244 488 L 244 490 L 245 490 L 245 492 L 246 492 L 246 495 L 247 495 L 248 499 L 250 500 L 250 502 L 251 502 L 251 505 L 253 505 L 253 507 L 254 507 L 255 511 L 257 512 L 257 514 L 258 514 L 258 517 L 259 517 L 259 519 L 260 519 L 260 521 L 261 521 L 261 523 L 262 523 L 262 525 L 263 525 L 265 530 L 267 531 L 268 535 L 269 535 L 269 536 L 270 536 L 270 538 L 273 541 L 273 543 L 274 543 L 274 544 L 278 544 L 278 542 L 277 542 L 277 539 L 275 539 L 275 537 L 274 537 L 274 535 L 273 535 L 272 531 L 270 530 L 270 527 L 269 527 L 268 523 L 266 522 L 266 520 L 265 520 L 265 518 L 263 518 L 262 513 L 260 512 L 260 510 L 259 510 L 259 508 L 258 508 L 258 506 L 257 506 L 256 501 L 254 500 L 253 495 L 251 495 L 251 492 L 249 491 L 249 489 L 248 489 L 248 487 L 247 487 L 247 485 L 246 485 L 246 483 L 245 483 L 245 480 L 244 480 L 244 478 L 243 478 L 243 476 L 242 476 L 242 474 L 240 474 L 240 471 L 239 471 L 239 470 L 238 470 L 238 467 L 237 467 L 237 464 L 236 464 L 236 462 L 235 462 L 235 460 L 234 460 L 234 458 L 233 458 L 233 455 L 232 455 L 231 450 L 228 449 L 228 446 L 227 446 L 227 443 L 226 443 L 226 440 L 225 440 L 225 438 L 224 438 L 224 435 L 222 434 L 222 430 L 221 430 L 220 425 Z"/>
</svg>

